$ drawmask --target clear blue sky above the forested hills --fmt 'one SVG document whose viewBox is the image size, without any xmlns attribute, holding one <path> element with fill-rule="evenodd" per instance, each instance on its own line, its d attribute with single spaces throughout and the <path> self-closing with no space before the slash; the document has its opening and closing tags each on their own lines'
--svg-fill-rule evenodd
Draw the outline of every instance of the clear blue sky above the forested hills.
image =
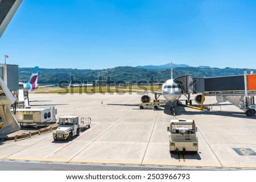
<svg viewBox="0 0 256 182">
<path fill-rule="evenodd" d="M 106 69 L 161 65 L 256 68 L 256 1 L 23 0 L 0 62 Z"/>
</svg>

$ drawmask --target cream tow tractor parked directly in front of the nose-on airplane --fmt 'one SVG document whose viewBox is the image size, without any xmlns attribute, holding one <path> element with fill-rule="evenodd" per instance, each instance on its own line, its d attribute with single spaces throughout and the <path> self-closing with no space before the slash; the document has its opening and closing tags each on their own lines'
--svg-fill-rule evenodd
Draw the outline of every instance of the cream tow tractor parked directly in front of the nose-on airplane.
<svg viewBox="0 0 256 182">
<path fill-rule="evenodd" d="M 170 137 L 170 152 L 198 151 L 197 127 L 194 120 L 171 120 L 167 130 Z"/>
</svg>

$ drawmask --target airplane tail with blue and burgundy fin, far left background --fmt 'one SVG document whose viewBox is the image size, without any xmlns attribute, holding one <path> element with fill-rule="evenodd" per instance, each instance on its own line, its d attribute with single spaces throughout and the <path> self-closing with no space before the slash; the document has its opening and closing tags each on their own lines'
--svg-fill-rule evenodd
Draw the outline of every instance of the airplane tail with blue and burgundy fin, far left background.
<svg viewBox="0 0 256 182">
<path fill-rule="evenodd" d="M 28 82 L 27 83 L 19 82 L 19 85 L 23 85 L 23 88 L 27 89 L 28 91 L 34 91 L 36 88 L 55 86 L 54 84 L 47 85 L 47 86 L 40 86 L 38 84 L 38 70 L 39 70 L 39 67 L 35 66 Z"/>
</svg>

